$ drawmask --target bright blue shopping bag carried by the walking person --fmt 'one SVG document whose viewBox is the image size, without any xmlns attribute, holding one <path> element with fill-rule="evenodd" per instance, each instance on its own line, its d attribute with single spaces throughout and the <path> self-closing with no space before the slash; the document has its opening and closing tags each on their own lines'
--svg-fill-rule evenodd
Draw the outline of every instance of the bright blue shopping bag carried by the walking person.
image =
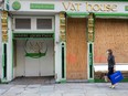
<svg viewBox="0 0 128 96">
<path fill-rule="evenodd" d="M 124 76 L 120 71 L 115 72 L 113 75 L 110 75 L 110 81 L 113 84 L 116 84 L 124 79 Z"/>
</svg>

